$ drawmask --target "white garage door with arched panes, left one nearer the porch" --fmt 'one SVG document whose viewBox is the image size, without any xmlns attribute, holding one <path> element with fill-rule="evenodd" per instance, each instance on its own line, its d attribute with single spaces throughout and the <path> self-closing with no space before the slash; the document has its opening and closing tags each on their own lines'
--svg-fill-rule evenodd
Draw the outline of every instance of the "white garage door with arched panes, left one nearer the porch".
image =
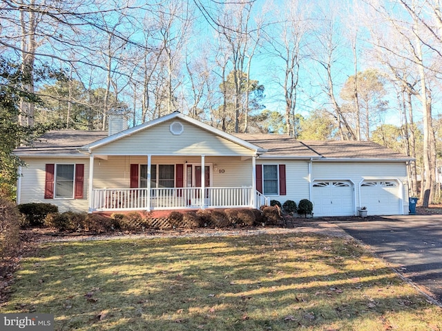
<svg viewBox="0 0 442 331">
<path fill-rule="evenodd" d="M 349 181 L 314 181 L 314 216 L 354 215 L 353 185 Z"/>
</svg>

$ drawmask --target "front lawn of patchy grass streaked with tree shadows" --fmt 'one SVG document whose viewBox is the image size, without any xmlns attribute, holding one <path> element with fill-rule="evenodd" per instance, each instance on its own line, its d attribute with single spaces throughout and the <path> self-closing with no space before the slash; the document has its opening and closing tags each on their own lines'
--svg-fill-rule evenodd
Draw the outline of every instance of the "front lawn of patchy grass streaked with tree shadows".
<svg viewBox="0 0 442 331">
<path fill-rule="evenodd" d="M 307 234 L 46 243 L 2 312 L 55 330 L 442 330 L 355 241 Z"/>
</svg>

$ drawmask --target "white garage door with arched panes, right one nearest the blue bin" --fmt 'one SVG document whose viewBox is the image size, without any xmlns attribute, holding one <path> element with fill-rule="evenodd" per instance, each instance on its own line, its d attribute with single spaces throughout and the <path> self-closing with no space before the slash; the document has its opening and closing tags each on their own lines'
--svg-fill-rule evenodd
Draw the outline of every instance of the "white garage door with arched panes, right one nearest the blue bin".
<svg viewBox="0 0 442 331">
<path fill-rule="evenodd" d="M 397 215 L 399 212 L 399 185 L 396 181 L 364 181 L 361 184 L 361 205 L 368 215 Z"/>
</svg>

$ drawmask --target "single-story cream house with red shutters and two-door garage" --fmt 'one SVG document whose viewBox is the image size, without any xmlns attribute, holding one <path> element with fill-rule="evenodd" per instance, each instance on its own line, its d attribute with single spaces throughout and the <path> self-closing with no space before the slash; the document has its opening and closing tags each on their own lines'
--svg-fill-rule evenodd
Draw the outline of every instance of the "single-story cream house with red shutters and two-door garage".
<svg viewBox="0 0 442 331">
<path fill-rule="evenodd" d="M 51 131 L 15 154 L 26 163 L 17 203 L 61 211 L 259 208 L 272 199 L 309 199 L 315 217 L 356 215 L 360 206 L 368 214 L 408 214 L 410 158 L 368 141 L 227 134 L 180 112 L 116 133 Z"/>
</svg>

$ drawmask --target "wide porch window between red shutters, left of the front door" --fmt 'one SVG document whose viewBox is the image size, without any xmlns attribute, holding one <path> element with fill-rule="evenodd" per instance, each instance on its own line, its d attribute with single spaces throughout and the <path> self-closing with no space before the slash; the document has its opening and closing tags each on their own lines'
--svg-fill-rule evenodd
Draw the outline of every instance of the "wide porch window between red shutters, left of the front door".
<svg viewBox="0 0 442 331">
<path fill-rule="evenodd" d="M 140 188 L 147 187 L 147 165 L 140 165 Z M 175 187 L 175 165 L 152 164 L 151 165 L 151 188 Z"/>
</svg>

